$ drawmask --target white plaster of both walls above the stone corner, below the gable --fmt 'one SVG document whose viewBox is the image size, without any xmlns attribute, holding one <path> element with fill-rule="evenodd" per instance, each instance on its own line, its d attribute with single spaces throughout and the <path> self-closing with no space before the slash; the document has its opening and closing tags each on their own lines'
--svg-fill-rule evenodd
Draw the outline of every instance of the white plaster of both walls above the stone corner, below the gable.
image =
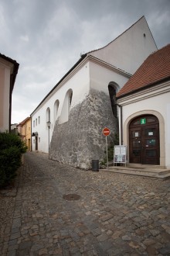
<svg viewBox="0 0 170 256">
<path fill-rule="evenodd" d="M 83 99 L 89 94 L 90 88 L 109 95 L 110 81 L 114 82 L 117 91 L 130 77 L 131 75 L 124 71 L 118 71 L 115 67 L 106 66 L 90 57 L 84 60 L 83 64 L 76 67 L 32 112 L 32 133 L 38 133 L 38 150 L 49 152 L 49 142 L 56 120 L 59 124 L 67 122 L 70 110 L 83 102 Z M 47 122 L 50 122 L 50 128 Z M 36 150 L 35 139 L 32 137 L 32 150 Z"/>
</svg>

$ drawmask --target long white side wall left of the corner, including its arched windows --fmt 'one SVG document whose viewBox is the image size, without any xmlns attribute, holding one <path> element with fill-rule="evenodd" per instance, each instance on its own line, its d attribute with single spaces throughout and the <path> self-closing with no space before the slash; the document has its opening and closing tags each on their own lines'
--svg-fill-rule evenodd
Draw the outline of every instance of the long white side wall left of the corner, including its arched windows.
<svg viewBox="0 0 170 256">
<path fill-rule="evenodd" d="M 53 92 L 32 112 L 32 133 L 38 133 L 38 150 L 48 153 L 56 120 L 65 123 L 70 109 L 88 95 L 90 89 L 89 63 L 77 67 Z M 38 121 L 37 121 L 38 120 Z M 50 128 L 47 122 L 50 122 Z M 49 138 L 48 138 L 49 137 Z M 32 150 L 36 150 L 36 138 L 32 137 Z"/>
</svg>

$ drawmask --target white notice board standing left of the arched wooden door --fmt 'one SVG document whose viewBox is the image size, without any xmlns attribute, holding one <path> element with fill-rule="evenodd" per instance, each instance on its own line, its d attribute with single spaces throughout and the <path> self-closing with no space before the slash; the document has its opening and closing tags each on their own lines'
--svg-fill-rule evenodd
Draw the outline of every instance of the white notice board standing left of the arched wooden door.
<svg viewBox="0 0 170 256">
<path fill-rule="evenodd" d="M 126 164 L 126 146 L 116 145 L 114 146 L 114 163 L 124 163 Z"/>
</svg>

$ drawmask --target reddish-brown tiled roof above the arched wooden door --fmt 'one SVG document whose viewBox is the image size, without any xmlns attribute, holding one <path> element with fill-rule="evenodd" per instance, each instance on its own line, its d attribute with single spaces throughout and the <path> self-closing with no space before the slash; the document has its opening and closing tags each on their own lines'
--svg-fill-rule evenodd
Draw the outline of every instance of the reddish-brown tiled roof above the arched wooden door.
<svg viewBox="0 0 170 256">
<path fill-rule="evenodd" d="M 170 78 L 170 44 L 153 54 L 141 64 L 141 67 L 128 80 L 123 88 L 117 92 L 117 99 L 125 95 L 154 86 L 158 82 Z"/>
</svg>

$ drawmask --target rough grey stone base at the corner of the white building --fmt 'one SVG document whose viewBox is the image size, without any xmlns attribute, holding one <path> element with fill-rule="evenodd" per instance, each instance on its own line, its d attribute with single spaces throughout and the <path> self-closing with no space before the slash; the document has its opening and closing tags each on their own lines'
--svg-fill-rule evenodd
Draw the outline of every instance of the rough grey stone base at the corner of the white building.
<svg viewBox="0 0 170 256">
<path fill-rule="evenodd" d="M 114 118 L 110 97 L 104 92 L 90 90 L 80 104 L 70 110 L 69 121 L 56 125 L 50 143 L 50 159 L 90 169 L 92 160 L 103 160 L 106 140 L 102 130 L 110 128 L 108 144 L 117 133 L 117 119 Z"/>
</svg>

